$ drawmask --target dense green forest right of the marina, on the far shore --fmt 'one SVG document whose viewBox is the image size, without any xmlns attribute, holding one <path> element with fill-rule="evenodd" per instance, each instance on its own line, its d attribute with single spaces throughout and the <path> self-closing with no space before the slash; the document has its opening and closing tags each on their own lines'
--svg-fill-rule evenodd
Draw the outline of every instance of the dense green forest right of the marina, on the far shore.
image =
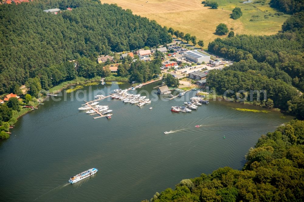
<svg viewBox="0 0 304 202">
<path fill-rule="evenodd" d="M 222 72 L 208 74 L 207 82 L 217 92 L 264 89 L 274 107 L 304 117 L 304 96 L 299 93 L 304 90 L 304 12 L 287 19 L 282 33 L 218 38 L 208 50 L 234 61 Z"/>
</svg>

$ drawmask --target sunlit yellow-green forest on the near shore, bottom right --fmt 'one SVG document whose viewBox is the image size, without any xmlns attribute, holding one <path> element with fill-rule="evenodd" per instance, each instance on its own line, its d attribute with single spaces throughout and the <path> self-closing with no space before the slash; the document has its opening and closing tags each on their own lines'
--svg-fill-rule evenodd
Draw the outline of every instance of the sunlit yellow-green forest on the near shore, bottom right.
<svg viewBox="0 0 304 202">
<path fill-rule="evenodd" d="M 223 167 L 181 180 L 174 190 L 157 192 L 150 201 L 302 201 L 303 143 L 304 121 L 292 120 L 262 135 L 249 149 L 242 170 Z"/>
</svg>

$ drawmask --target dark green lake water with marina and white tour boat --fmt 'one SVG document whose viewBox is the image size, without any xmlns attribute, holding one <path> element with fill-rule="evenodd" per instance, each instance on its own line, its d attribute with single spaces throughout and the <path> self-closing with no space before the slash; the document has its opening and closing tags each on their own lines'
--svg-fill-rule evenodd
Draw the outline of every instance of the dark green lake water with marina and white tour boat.
<svg viewBox="0 0 304 202">
<path fill-rule="evenodd" d="M 151 92 L 154 86 L 157 84 L 142 89 Z M 129 85 L 85 87 L 92 88 L 85 100 L 93 100 L 96 90 L 109 95 L 113 89 L 126 87 Z M 211 101 L 191 113 L 173 113 L 171 106 L 182 105 L 184 100 L 158 100 L 143 107 L 103 100 L 100 104 L 113 110 L 112 119 L 94 120 L 78 111 L 84 102 L 75 96 L 46 101 L 19 118 L 11 137 L 0 142 L 1 200 L 150 199 L 156 191 L 174 188 L 182 179 L 224 166 L 241 169 L 245 154 L 261 134 L 293 118 L 282 119 L 275 111 L 237 111 L 232 107 L 262 108 L 229 102 Z M 170 130 L 175 132 L 164 134 Z M 94 176 L 68 183 L 71 176 L 92 167 L 99 170 Z"/>
</svg>

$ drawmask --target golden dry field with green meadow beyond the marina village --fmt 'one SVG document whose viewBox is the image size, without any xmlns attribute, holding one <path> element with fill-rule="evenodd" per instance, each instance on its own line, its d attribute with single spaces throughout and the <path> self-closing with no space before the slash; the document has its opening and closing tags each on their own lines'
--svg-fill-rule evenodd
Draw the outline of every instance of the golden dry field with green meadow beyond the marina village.
<svg viewBox="0 0 304 202">
<path fill-rule="evenodd" d="M 265 5 L 239 1 L 216 0 L 219 3 L 218 9 L 204 7 L 201 0 L 149 0 L 147 3 L 143 0 L 104 0 L 102 3 L 116 3 L 124 9 L 131 9 L 133 14 L 196 35 L 197 41 L 204 41 L 203 48 L 217 37 L 226 37 L 214 34 L 216 26 L 221 22 L 227 24 L 229 29 L 232 27 L 235 34 L 272 35 L 281 30 L 281 25 L 289 17 L 269 15 L 269 19 L 264 19 L 264 15 L 276 12 L 268 4 L 270 0 Z M 243 12 L 243 16 L 237 20 L 230 18 L 235 7 L 240 7 Z M 252 17 L 253 15 L 259 17 Z"/>
</svg>

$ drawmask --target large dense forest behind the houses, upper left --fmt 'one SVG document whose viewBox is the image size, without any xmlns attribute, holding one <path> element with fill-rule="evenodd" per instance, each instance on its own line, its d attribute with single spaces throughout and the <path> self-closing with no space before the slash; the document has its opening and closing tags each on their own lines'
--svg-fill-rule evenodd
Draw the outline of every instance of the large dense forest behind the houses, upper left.
<svg viewBox="0 0 304 202">
<path fill-rule="evenodd" d="M 43 12 L 50 8 L 61 12 Z M 42 0 L 1 5 L 0 12 L 0 95 L 16 93 L 16 86 L 30 78 L 40 79 L 48 89 L 75 76 L 102 73 L 100 67 L 73 71 L 68 60 L 80 59 L 87 66 L 102 54 L 171 42 L 167 28 L 155 21 L 98 1 Z"/>
</svg>

